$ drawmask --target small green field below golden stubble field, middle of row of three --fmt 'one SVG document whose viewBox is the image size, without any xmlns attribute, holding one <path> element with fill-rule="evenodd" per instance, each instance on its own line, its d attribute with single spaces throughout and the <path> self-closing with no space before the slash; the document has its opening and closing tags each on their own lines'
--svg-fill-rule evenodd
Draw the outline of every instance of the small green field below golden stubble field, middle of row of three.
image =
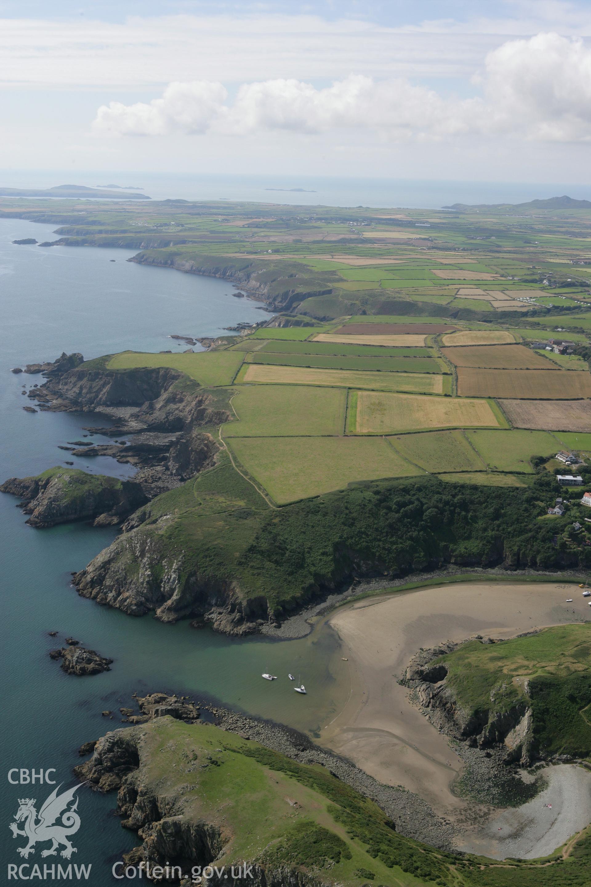
<svg viewBox="0 0 591 887">
<path fill-rule="evenodd" d="M 486 471 L 485 463 L 460 430 L 400 435 L 389 440 L 405 459 L 431 474 L 442 467 L 448 472 Z"/>
</svg>

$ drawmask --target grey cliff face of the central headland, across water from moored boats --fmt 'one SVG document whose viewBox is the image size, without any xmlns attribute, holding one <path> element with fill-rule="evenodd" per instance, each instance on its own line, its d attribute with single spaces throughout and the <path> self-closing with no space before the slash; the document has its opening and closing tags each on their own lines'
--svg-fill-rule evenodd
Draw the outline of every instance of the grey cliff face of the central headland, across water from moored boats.
<svg viewBox="0 0 591 887">
<path fill-rule="evenodd" d="M 236 636 L 259 631 L 256 620 L 269 618 L 266 598 L 243 600 L 235 583 L 187 569 L 152 527 L 124 532 L 74 575 L 74 585 L 82 597 L 130 616 L 153 611 L 162 622 L 202 618 L 214 631 Z"/>
</svg>

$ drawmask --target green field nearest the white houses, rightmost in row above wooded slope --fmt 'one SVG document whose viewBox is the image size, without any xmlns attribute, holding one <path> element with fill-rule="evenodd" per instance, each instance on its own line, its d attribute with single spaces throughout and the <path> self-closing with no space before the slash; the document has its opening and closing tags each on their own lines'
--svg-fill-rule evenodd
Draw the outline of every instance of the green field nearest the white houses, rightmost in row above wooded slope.
<svg viewBox="0 0 591 887">
<path fill-rule="evenodd" d="M 472 446 L 486 465 L 494 471 L 519 471 L 533 474 L 533 456 L 552 456 L 561 449 L 556 437 L 548 431 L 510 431 L 474 429 L 466 431 Z"/>
</svg>

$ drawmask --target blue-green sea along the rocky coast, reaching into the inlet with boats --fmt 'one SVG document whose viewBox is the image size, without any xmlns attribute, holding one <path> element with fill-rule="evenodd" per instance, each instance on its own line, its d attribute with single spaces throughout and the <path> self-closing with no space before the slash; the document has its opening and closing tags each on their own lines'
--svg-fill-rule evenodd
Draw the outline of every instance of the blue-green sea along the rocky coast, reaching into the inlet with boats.
<svg viewBox="0 0 591 887">
<path fill-rule="evenodd" d="M 63 465 L 72 459 L 59 445 L 105 424 L 104 417 L 89 413 L 24 411 L 31 401 L 22 392 L 43 383 L 43 378 L 11 373 L 13 367 L 54 360 L 62 351 L 81 351 L 89 359 L 123 349 L 180 350 L 186 346 L 178 346 L 170 335 L 221 334 L 238 321 L 268 316 L 259 303 L 235 298 L 222 280 L 129 263 L 132 251 L 12 243 L 55 239 L 54 230 L 55 225 L 0 220 L 1 481 Z M 94 435 L 88 440 L 109 439 Z M 133 474 L 130 467 L 105 457 L 76 459 L 75 464 L 92 473 Z M 40 781 L 40 771 L 49 770 L 60 790 L 76 784 L 77 749 L 82 742 L 125 726 L 119 709 L 133 704 L 134 693 L 189 694 L 275 719 L 315 737 L 323 722 L 342 708 L 348 688 L 338 677 L 338 640 L 330 628 L 302 640 L 232 640 L 208 629 L 191 629 L 186 621 L 161 624 L 152 616 L 136 618 L 98 606 L 77 595 L 71 572 L 108 546 L 117 530 L 83 522 L 35 530 L 16 505 L 14 497 L 0 493 L 2 865 L 29 864 L 24 875 L 32 874 L 35 863 L 42 876 L 45 864 L 50 873 L 52 864 L 67 869 L 68 861 L 60 856 L 41 859 L 48 844 L 38 845 L 35 854 L 23 860 L 17 848 L 25 838 L 13 838 L 9 823 L 19 798 L 34 797 L 39 810 L 55 788 Z M 58 637 L 48 632 L 58 632 Z M 111 671 L 92 677 L 66 675 L 49 657 L 66 636 L 113 657 Z M 277 680 L 261 679 L 263 671 L 273 672 Z M 293 692 L 290 671 L 307 685 L 306 696 Z M 113 719 L 104 717 L 104 710 L 111 710 Z M 113 863 L 138 839 L 121 828 L 114 794 L 82 787 L 78 796 L 82 824 L 73 838 L 77 852 L 69 861 L 91 866 L 84 883 L 116 883 Z M 7 873 L 5 868 L 0 872 L 0 883 L 9 883 Z"/>
</svg>

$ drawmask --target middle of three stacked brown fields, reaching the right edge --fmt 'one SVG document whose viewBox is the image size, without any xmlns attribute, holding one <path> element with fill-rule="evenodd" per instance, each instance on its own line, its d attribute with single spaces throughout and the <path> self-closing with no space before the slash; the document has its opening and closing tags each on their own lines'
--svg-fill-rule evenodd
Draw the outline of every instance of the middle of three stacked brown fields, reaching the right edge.
<svg viewBox="0 0 591 887">
<path fill-rule="evenodd" d="M 525 397 L 532 400 L 591 397 L 591 373 L 458 366 L 457 393 L 462 397 Z"/>
</svg>

